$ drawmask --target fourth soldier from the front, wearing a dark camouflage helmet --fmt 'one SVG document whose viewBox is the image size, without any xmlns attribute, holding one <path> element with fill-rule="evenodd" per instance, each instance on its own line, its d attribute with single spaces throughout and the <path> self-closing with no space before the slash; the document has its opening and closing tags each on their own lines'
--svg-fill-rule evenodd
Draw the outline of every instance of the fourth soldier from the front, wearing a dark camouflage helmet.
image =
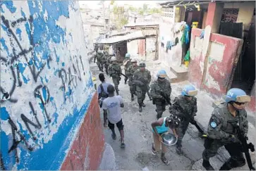
<svg viewBox="0 0 256 171">
<path fill-rule="evenodd" d="M 139 66 L 140 68 L 133 74 L 133 81 L 136 84 L 139 112 L 142 112 L 142 107 L 145 107 L 145 103 L 143 103 L 143 101 L 145 100 L 145 96 L 149 90 L 149 84 L 151 82 L 151 74 L 150 71 L 145 68 L 145 63 L 140 63 Z"/>
</svg>

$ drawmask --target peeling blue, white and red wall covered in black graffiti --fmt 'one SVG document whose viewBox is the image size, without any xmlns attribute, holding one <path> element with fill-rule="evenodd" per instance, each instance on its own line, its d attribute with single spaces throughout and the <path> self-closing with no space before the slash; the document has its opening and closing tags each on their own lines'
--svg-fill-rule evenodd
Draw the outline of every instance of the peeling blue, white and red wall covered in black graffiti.
<svg viewBox="0 0 256 171">
<path fill-rule="evenodd" d="M 78 2 L 0 10 L 1 170 L 96 170 L 104 134 Z"/>
</svg>

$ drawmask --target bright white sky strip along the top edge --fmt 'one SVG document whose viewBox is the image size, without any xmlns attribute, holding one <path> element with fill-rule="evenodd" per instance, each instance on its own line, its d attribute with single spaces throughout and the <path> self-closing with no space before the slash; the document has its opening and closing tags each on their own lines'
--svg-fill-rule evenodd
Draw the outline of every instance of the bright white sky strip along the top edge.
<svg viewBox="0 0 256 171">
<path fill-rule="evenodd" d="M 79 1 L 81 8 L 83 6 L 90 6 L 92 9 L 100 8 L 101 5 L 98 5 L 100 1 Z M 108 6 L 111 1 L 105 1 L 105 5 Z M 157 3 L 162 3 L 164 1 L 115 1 L 114 4 L 121 6 L 123 4 L 128 4 L 136 7 L 142 7 L 143 4 L 150 4 L 150 6 L 154 6 Z"/>
</svg>

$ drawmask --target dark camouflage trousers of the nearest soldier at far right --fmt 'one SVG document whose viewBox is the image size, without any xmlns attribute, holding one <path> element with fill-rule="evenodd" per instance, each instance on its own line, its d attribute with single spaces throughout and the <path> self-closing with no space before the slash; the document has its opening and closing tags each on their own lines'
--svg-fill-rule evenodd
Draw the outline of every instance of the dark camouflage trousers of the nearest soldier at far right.
<svg viewBox="0 0 256 171">
<path fill-rule="evenodd" d="M 244 160 L 243 153 L 241 152 L 241 145 L 239 143 L 224 144 L 217 139 L 205 139 L 205 150 L 202 152 L 202 158 L 209 160 L 217 154 L 218 149 L 224 146 L 234 161 Z"/>
</svg>

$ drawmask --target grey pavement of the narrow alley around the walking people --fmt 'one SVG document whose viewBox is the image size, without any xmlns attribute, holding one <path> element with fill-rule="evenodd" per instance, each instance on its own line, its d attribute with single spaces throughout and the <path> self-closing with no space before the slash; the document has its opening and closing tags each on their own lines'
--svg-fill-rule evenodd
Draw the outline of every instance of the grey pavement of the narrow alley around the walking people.
<svg viewBox="0 0 256 171">
<path fill-rule="evenodd" d="M 149 65 L 147 65 L 149 64 Z M 151 72 L 154 72 L 158 68 L 153 65 L 154 62 L 149 61 L 146 63 L 146 68 L 150 68 Z M 96 63 L 90 63 L 90 68 L 93 77 L 98 78 L 99 68 Z M 106 75 L 106 82 L 112 83 L 111 78 Z M 155 75 L 152 75 L 152 80 Z M 97 85 L 100 82 L 97 79 Z M 178 82 L 171 84 L 171 100 L 175 96 L 181 93 L 181 89 L 184 84 L 188 82 Z M 113 150 L 116 158 L 116 167 L 107 166 L 106 168 L 110 170 L 142 170 L 142 168 L 147 167 L 149 170 L 205 170 L 202 167 L 202 151 L 204 139 L 198 137 L 197 129 L 193 125 L 189 125 L 188 132 L 185 134 L 183 140 L 183 151 L 184 155 L 179 156 L 176 153 L 175 146 L 169 147 L 169 151 L 166 153 L 166 157 L 170 160 L 170 165 L 165 165 L 162 163 L 159 156 L 152 155 L 152 127 L 151 123 L 156 120 L 155 106 L 152 101 L 146 95 L 145 105 L 146 107 L 142 109 L 142 113 L 138 112 L 137 99 L 130 101 L 130 91 L 128 84 L 124 84 L 124 77 L 121 77 L 121 82 L 119 84 L 119 94 L 123 97 L 124 108 L 122 109 L 124 134 L 126 141 L 126 148 L 120 148 L 120 135 L 117 133 L 117 139 L 113 140 L 111 138 L 111 130 L 107 127 L 104 129 L 105 141 L 109 144 Z M 209 117 L 212 113 L 212 98 L 205 92 L 200 91 L 197 95 L 197 116 L 195 120 L 202 124 L 203 127 L 207 127 L 209 122 Z M 163 116 L 168 116 L 168 106 L 166 106 L 166 111 Z M 101 108 L 101 118 L 103 127 L 103 111 Z M 254 130 L 253 130 L 254 128 Z M 116 128 L 116 132 L 118 129 Z M 251 134 L 255 134 L 255 126 L 250 124 Z M 252 142 L 255 143 L 255 142 Z M 107 156 L 109 157 L 109 156 Z M 212 166 L 215 170 L 219 170 L 219 167 L 229 158 L 227 151 L 223 148 L 219 150 L 217 156 L 212 158 Z M 252 157 L 253 158 L 253 157 Z M 253 158 L 253 163 L 255 159 Z M 105 170 L 105 169 L 102 169 Z M 236 168 L 236 170 L 248 170 L 248 166 L 245 165 L 241 168 Z"/>
</svg>

